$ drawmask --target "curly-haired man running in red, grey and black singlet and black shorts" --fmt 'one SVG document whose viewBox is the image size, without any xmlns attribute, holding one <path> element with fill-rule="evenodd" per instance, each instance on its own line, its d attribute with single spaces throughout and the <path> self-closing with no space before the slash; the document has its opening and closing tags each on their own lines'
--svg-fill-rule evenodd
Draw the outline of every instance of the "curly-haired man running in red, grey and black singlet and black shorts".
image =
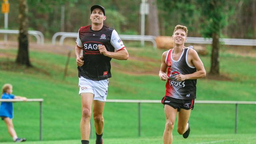
<svg viewBox="0 0 256 144">
<path fill-rule="evenodd" d="M 204 65 L 197 52 L 184 46 L 187 40 L 187 27 L 177 25 L 173 32 L 173 49 L 163 52 L 159 77 L 166 81 L 164 105 L 166 124 L 163 144 L 173 142 L 173 127 L 178 114 L 177 131 L 184 138 L 189 136 L 188 124 L 191 109 L 196 98 L 198 78 L 206 76 Z"/>
</svg>

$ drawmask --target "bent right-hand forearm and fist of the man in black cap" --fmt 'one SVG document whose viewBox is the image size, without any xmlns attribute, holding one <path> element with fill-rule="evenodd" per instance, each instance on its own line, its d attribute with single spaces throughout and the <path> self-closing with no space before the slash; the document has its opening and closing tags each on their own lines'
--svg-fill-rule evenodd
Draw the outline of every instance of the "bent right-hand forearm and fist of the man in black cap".
<svg viewBox="0 0 256 144">
<path fill-rule="evenodd" d="M 104 45 L 101 45 L 101 46 L 98 46 L 98 49 L 100 51 L 100 54 L 103 54 L 107 57 L 111 57 L 113 59 L 127 60 L 129 57 L 129 54 L 128 54 L 126 48 L 123 48 L 122 50 L 119 50 L 117 52 L 108 52 L 106 50 L 106 47 Z"/>
</svg>

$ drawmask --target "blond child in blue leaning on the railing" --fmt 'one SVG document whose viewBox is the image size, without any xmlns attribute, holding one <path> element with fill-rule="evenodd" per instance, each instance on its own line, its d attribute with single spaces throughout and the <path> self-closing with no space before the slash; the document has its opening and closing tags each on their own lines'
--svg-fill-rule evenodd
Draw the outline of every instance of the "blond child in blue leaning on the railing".
<svg viewBox="0 0 256 144">
<path fill-rule="evenodd" d="M 13 86 L 11 84 L 4 84 L 2 87 L 2 99 L 21 99 L 26 101 L 26 97 L 15 96 L 12 94 Z M 14 142 L 24 142 L 26 138 L 18 138 L 16 131 L 13 127 L 13 103 L 12 102 L 2 102 L 0 105 L 0 117 L 6 123 L 7 129 Z"/>
</svg>

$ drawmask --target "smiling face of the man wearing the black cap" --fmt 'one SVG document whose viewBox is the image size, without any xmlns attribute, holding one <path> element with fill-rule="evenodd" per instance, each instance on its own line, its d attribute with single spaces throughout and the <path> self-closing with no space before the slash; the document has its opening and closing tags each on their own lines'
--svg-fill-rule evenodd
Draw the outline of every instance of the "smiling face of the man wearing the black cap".
<svg viewBox="0 0 256 144">
<path fill-rule="evenodd" d="M 93 24 L 102 24 L 103 21 L 106 20 L 106 16 L 104 16 L 101 9 L 95 8 L 91 13 L 90 19 Z"/>
</svg>

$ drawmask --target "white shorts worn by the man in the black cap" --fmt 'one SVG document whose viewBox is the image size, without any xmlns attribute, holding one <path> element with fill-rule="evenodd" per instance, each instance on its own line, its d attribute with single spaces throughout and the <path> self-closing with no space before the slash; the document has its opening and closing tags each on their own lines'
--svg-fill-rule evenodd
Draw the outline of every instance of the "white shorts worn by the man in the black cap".
<svg viewBox="0 0 256 144">
<path fill-rule="evenodd" d="M 94 94 L 93 100 L 106 102 L 108 94 L 108 83 L 108 79 L 93 81 L 90 79 L 83 78 L 81 76 L 78 82 L 79 95 L 83 93 L 92 93 Z"/>
</svg>

